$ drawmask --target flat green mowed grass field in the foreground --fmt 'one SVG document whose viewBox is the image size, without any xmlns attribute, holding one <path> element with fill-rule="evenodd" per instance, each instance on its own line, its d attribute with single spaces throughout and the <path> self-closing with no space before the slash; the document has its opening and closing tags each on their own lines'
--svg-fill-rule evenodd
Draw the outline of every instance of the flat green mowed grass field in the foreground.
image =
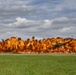
<svg viewBox="0 0 76 75">
<path fill-rule="evenodd" d="M 0 55 L 0 75 L 76 75 L 76 56 Z"/>
</svg>

